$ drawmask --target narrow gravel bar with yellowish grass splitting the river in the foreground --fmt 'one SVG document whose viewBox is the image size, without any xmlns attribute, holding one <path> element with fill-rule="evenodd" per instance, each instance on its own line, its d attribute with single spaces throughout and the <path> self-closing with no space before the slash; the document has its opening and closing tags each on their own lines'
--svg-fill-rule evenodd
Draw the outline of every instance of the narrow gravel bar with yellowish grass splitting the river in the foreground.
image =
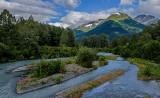
<svg viewBox="0 0 160 98">
<path fill-rule="evenodd" d="M 57 94 L 55 94 L 55 98 L 80 98 L 83 93 L 87 90 L 93 89 L 111 79 L 114 79 L 118 76 L 123 75 L 125 72 L 121 70 L 113 71 L 109 74 L 103 75 L 98 79 L 88 81 L 86 83 L 80 84 L 78 86 L 74 86 L 63 90 Z"/>
</svg>

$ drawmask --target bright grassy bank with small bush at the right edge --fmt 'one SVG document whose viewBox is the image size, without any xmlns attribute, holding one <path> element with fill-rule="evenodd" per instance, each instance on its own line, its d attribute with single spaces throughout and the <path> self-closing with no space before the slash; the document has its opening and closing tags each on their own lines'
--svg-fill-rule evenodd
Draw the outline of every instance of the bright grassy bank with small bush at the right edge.
<svg viewBox="0 0 160 98">
<path fill-rule="evenodd" d="M 150 60 L 139 58 L 128 58 L 127 61 L 139 67 L 138 78 L 141 80 L 158 80 L 160 79 L 160 64 Z"/>
</svg>

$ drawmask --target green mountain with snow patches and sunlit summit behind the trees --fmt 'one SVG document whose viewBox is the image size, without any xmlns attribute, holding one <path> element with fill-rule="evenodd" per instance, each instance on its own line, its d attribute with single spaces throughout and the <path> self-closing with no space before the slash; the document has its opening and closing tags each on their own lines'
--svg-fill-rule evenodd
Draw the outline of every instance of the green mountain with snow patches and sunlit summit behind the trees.
<svg viewBox="0 0 160 98">
<path fill-rule="evenodd" d="M 112 40 L 113 37 L 119 38 L 122 35 L 130 37 L 133 33 L 141 32 L 145 27 L 144 24 L 135 21 L 127 14 L 115 13 L 107 19 L 83 24 L 74 31 L 77 41 L 80 41 L 83 36 L 100 35 L 101 33 L 107 34 Z"/>
</svg>

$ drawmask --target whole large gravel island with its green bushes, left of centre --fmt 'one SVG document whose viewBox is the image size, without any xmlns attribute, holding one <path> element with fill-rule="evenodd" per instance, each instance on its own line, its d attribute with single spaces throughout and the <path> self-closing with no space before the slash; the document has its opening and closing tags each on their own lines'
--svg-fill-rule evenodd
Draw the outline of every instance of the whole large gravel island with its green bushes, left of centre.
<svg viewBox="0 0 160 98">
<path fill-rule="evenodd" d="M 107 64 L 108 60 L 104 56 L 97 56 L 94 50 L 86 47 L 79 49 L 77 57 L 32 63 L 21 68 L 30 70 L 30 73 L 17 83 L 17 93 L 55 85 Z"/>
</svg>

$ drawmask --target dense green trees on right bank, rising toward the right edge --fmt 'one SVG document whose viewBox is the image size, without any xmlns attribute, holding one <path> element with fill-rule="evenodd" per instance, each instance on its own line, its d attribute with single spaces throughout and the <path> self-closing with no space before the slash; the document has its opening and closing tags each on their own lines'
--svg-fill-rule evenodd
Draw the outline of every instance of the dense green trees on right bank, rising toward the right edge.
<svg viewBox="0 0 160 98">
<path fill-rule="evenodd" d="M 124 38 L 123 38 L 124 40 Z M 123 57 L 142 58 L 160 62 L 160 21 L 146 27 L 138 36 L 133 34 L 129 41 L 117 45 L 118 40 L 113 39 L 112 52 Z"/>
</svg>

